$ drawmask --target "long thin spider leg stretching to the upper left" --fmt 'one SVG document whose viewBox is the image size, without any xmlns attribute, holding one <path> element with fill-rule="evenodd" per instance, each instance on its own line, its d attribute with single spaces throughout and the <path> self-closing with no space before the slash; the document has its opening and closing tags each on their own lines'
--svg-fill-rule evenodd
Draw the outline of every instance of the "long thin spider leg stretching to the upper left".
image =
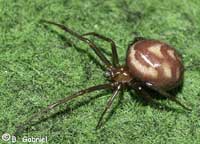
<svg viewBox="0 0 200 144">
<path fill-rule="evenodd" d="M 78 34 L 77 32 L 69 29 L 68 27 L 62 25 L 62 24 L 58 24 L 52 21 L 47 21 L 47 20 L 41 20 L 41 22 L 44 23 L 48 23 L 48 24 L 52 24 L 55 26 L 58 26 L 59 28 L 63 29 L 65 32 L 70 33 L 71 35 L 75 36 L 76 38 L 78 38 L 79 40 L 87 43 L 96 53 L 96 55 L 101 59 L 101 61 L 107 66 L 108 69 L 112 68 L 112 64 L 108 61 L 108 59 L 103 55 L 103 53 L 100 51 L 100 49 L 89 39 L 81 36 L 80 34 Z"/>
</svg>

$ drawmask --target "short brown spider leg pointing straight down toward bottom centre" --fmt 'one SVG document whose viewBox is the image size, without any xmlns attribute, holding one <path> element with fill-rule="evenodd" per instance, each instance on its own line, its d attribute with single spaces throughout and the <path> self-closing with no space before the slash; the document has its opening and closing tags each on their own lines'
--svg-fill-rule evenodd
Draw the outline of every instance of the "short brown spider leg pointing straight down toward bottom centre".
<svg viewBox="0 0 200 144">
<path fill-rule="evenodd" d="M 121 88 L 121 85 L 118 85 L 117 88 L 115 89 L 113 95 L 108 99 L 108 102 L 107 102 L 107 104 L 106 104 L 106 107 L 105 107 L 103 113 L 101 114 L 101 117 L 99 118 L 99 121 L 98 121 L 98 124 L 97 124 L 97 126 L 96 126 L 96 129 L 98 129 L 98 128 L 101 127 L 103 117 L 104 117 L 104 115 L 106 114 L 106 112 L 108 111 L 108 109 L 110 109 L 110 107 L 111 107 L 111 105 L 112 105 L 114 99 L 116 98 L 116 96 L 117 96 L 118 93 L 119 93 L 120 88 Z"/>
</svg>

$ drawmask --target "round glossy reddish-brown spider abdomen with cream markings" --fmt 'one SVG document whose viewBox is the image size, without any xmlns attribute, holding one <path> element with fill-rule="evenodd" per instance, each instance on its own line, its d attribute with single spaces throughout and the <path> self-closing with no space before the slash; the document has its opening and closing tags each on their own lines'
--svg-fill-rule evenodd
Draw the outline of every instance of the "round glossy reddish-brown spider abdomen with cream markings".
<svg viewBox="0 0 200 144">
<path fill-rule="evenodd" d="M 140 40 L 131 45 L 126 63 L 136 79 L 162 89 L 178 86 L 183 77 L 181 57 L 174 48 L 157 40 Z"/>
</svg>

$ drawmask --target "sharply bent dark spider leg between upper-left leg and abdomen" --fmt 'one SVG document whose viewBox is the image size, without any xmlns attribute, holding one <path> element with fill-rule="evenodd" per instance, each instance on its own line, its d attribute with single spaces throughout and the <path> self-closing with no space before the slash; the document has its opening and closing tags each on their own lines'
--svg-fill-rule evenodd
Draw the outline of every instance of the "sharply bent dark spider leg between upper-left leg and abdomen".
<svg viewBox="0 0 200 144">
<path fill-rule="evenodd" d="M 95 33 L 95 32 L 89 32 L 89 33 L 82 34 L 82 36 L 88 36 L 88 35 L 93 35 L 93 36 L 95 36 L 95 37 L 97 37 L 99 39 L 102 39 L 104 41 L 107 41 L 107 42 L 109 42 L 111 44 L 113 65 L 115 67 L 117 67 L 119 65 L 119 58 L 118 58 L 115 42 L 112 39 L 107 38 L 107 37 L 105 37 L 103 35 L 100 35 L 98 33 Z"/>
</svg>

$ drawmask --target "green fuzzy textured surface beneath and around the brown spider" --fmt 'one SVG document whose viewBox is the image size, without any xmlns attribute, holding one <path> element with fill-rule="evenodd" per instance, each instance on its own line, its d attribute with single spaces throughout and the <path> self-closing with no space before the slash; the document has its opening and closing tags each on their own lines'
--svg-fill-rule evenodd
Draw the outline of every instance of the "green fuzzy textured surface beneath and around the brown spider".
<svg viewBox="0 0 200 144">
<path fill-rule="evenodd" d="M 199 16 L 199 0 L 0 0 L 0 135 L 13 133 L 17 124 L 48 104 L 106 81 L 93 51 L 62 30 L 41 24 L 44 18 L 112 38 L 121 63 L 136 36 L 170 43 L 190 66 L 177 96 L 193 111 L 184 112 L 168 100 L 160 102 L 174 110 L 159 110 L 125 92 L 103 128 L 95 131 L 111 93 L 94 92 L 55 109 L 21 137 L 48 136 L 50 144 L 199 144 Z M 94 41 L 110 57 L 109 44 Z"/>
</svg>

